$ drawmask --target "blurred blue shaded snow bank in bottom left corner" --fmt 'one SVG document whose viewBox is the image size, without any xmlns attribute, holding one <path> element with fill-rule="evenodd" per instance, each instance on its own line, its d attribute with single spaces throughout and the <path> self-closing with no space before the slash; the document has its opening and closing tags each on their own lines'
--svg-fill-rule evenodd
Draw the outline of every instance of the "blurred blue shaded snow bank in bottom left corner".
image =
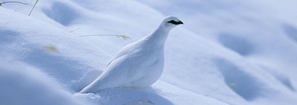
<svg viewBox="0 0 297 105">
<path fill-rule="evenodd" d="M 3 105 L 83 105 L 71 94 L 49 85 L 38 72 L 24 72 L 28 67 L 1 63 L 0 101 Z"/>
</svg>

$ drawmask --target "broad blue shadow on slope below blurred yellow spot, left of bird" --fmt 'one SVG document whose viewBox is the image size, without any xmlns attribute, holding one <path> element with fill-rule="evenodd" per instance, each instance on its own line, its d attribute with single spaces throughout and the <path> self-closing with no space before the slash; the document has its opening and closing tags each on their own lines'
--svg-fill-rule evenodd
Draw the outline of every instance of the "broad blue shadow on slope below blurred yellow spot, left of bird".
<svg viewBox="0 0 297 105">
<path fill-rule="evenodd" d="M 89 67 L 80 64 L 80 61 L 71 60 L 55 54 L 57 52 L 45 49 L 35 49 L 24 59 L 30 65 L 41 69 L 60 82 L 68 84 L 71 80 L 77 80 L 84 75 L 84 71 Z"/>
</svg>

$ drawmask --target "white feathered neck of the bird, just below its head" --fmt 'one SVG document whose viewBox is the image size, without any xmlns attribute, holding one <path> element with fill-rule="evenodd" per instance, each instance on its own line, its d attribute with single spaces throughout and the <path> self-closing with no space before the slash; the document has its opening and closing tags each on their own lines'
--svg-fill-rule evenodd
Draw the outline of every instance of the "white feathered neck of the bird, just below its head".
<svg viewBox="0 0 297 105">
<path fill-rule="evenodd" d="M 160 25 L 155 31 L 146 36 L 145 39 L 152 44 L 164 46 L 169 31 L 170 29 L 166 29 Z"/>
</svg>

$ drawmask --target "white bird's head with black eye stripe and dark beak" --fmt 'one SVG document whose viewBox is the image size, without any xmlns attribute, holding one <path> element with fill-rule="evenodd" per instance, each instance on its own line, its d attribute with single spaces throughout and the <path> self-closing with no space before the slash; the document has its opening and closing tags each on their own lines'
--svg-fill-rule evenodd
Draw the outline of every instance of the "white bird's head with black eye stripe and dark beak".
<svg viewBox="0 0 297 105">
<path fill-rule="evenodd" d="M 175 26 L 179 25 L 179 24 L 183 24 L 182 21 L 180 21 L 179 19 L 177 19 L 174 16 L 167 16 L 161 23 L 163 25 L 163 27 L 168 28 L 168 29 L 172 29 Z"/>
</svg>

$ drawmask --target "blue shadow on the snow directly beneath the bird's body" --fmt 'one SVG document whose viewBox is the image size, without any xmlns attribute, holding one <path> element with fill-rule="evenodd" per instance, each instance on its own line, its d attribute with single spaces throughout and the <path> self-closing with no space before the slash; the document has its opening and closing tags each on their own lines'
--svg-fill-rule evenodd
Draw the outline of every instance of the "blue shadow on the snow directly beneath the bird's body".
<svg viewBox="0 0 297 105">
<path fill-rule="evenodd" d="M 158 95 L 156 89 L 152 87 L 118 87 L 100 90 L 95 93 L 75 93 L 73 96 L 90 104 L 99 105 L 174 105 L 168 99 Z"/>
</svg>

